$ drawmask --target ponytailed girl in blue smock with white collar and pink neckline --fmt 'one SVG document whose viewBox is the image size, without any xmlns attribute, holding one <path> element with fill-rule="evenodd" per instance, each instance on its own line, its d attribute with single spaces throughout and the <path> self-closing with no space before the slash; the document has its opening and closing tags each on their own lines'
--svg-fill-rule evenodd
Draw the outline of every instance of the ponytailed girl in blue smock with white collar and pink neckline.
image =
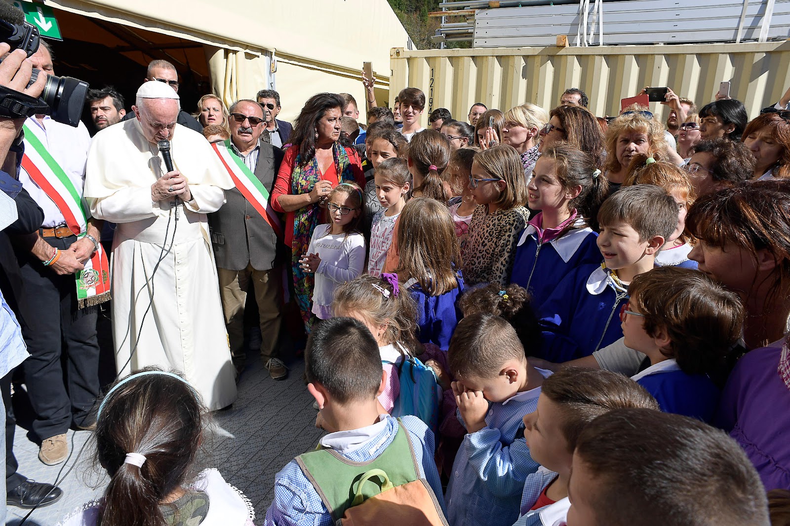
<svg viewBox="0 0 790 526">
<path fill-rule="evenodd" d="M 583 151 L 553 146 L 535 163 L 527 192 L 529 207 L 540 212 L 518 240 L 511 282 L 540 306 L 570 270 L 600 263 L 597 234 L 587 218 L 598 214 L 608 181 Z"/>
</svg>

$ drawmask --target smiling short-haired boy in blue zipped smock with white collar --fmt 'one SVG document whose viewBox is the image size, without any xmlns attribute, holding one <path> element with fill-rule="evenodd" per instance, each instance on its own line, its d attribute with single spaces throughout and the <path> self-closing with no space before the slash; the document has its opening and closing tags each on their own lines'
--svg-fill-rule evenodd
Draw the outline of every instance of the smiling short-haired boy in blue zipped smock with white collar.
<svg viewBox="0 0 790 526">
<path fill-rule="evenodd" d="M 596 242 L 604 261 L 570 272 L 541 306 L 540 358 L 574 360 L 623 337 L 617 315 L 628 300 L 628 284 L 653 268 L 678 224 L 678 205 L 657 186 L 627 186 L 604 201 L 598 222 Z"/>
</svg>

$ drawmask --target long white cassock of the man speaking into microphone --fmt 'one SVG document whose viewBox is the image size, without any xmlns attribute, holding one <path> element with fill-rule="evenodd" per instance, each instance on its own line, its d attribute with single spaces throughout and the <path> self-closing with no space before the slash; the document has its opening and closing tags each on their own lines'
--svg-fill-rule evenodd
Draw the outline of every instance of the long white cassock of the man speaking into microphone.
<svg viewBox="0 0 790 526">
<path fill-rule="evenodd" d="M 198 132 L 175 125 L 171 155 L 194 197 L 179 207 L 178 221 L 170 201 L 151 200 L 151 185 L 167 169 L 137 119 L 93 138 L 85 198 L 93 217 L 118 224 L 111 274 L 117 371 L 175 369 L 215 410 L 235 400 L 236 385 L 206 214 L 223 205 L 223 188 L 233 183 Z"/>
</svg>

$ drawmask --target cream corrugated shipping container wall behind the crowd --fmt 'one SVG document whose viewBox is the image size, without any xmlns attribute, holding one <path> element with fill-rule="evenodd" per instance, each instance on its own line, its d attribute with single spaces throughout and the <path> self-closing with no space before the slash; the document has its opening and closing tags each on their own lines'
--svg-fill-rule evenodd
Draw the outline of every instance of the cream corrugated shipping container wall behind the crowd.
<svg viewBox="0 0 790 526">
<path fill-rule="evenodd" d="M 589 108 L 600 117 L 616 115 L 620 99 L 645 86 L 672 88 L 698 106 L 714 99 L 719 83 L 732 83 L 731 95 L 750 117 L 769 106 L 790 86 L 790 41 L 781 43 L 694 44 L 683 46 L 520 47 L 405 51 L 390 54 L 389 104 L 398 91 L 425 91 L 430 110 L 446 107 L 465 120 L 469 107 L 482 102 L 509 109 L 535 103 L 551 109 L 566 88 L 581 88 Z M 666 106 L 651 103 L 666 117 Z"/>
</svg>

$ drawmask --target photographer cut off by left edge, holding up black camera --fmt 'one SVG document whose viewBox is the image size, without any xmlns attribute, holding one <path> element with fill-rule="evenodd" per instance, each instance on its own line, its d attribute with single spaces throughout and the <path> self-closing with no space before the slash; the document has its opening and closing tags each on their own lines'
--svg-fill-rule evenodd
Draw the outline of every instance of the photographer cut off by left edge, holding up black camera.
<svg viewBox="0 0 790 526">
<path fill-rule="evenodd" d="M 32 62 L 23 50 L 9 54 L 9 45 L 0 43 L 0 85 L 26 95 L 38 97 L 43 90 L 46 76 L 40 76 L 35 84 L 26 88 L 32 71 Z M 50 505 L 63 494 L 60 488 L 47 483 L 37 483 L 17 473 L 17 459 L 13 456 L 13 435 L 16 422 L 11 412 L 11 371 L 28 357 L 17 317 L 25 314 L 27 306 L 24 290 L 9 236 L 35 233 L 43 221 L 43 211 L 21 188 L 17 181 L 17 167 L 21 160 L 21 134 L 24 118 L 0 118 L 0 390 L 3 405 L 0 412 L 5 415 L 6 434 L 6 502 L 23 508 L 34 505 Z M 19 155 L 17 155 L 19 154 Z M 0 483 L 2 485 L 2 483 Z M 5 522 L 5 506 L 0 523 Z"/>
</svg>

